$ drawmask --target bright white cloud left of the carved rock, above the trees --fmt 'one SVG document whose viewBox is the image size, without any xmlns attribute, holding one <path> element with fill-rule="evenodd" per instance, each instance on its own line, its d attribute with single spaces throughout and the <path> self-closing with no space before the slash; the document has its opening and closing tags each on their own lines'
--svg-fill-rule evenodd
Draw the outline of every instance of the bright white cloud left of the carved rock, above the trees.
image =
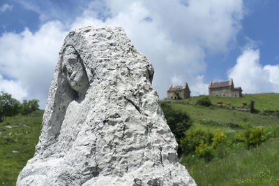
<svg viewBox="0 0 279 186">
<path fill-rule="evenodd" d="M 44 108 L 65 36 L 60 22 L 47 22 L 35 33 L 25 29 L 20 34 L 3 34 L 0 37 L 0 73 L 13 80 L 4 81 L 0 89 L 20 100 L 39 99 Z"/>
</svg>

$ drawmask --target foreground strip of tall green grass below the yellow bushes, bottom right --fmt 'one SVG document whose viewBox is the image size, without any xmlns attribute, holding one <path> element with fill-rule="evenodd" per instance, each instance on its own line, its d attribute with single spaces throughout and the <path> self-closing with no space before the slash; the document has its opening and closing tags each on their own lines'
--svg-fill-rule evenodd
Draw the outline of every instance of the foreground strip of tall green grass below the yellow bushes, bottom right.
<svg viewBox="0 0 279 186">
<path fill-rule="evenodd" d="M 187 167 L 197 185 L 278 185 L 279 140 L 269 140 L 258 148 L 232 153 L 223 159 L 195 164 L 182 163 Z M 195 157 L 192 157 L 195 159 Z"/>
</svg>

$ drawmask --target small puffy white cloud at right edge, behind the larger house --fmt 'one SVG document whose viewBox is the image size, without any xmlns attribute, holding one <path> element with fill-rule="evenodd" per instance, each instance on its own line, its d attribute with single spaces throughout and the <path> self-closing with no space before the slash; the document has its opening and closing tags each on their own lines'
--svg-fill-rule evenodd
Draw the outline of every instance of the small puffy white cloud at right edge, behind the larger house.
<svg viewBox="0 0 279 186">
<path fill-rule="evenodd" d="M 241 86 L 244 93 L 279 91 L 279 66 L 262 66 L 259 63 L 259 49 L 243 50 L 228 76 L 234 79 L 234 85 Z"/>
</svg>

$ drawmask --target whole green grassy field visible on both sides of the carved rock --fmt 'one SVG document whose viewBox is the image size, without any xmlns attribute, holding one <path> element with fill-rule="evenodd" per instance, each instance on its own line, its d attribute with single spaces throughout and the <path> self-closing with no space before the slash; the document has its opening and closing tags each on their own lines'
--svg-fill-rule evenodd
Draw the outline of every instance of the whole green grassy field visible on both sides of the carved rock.
<svg viewBox="0 0 279 186">
<path fill-rule="evenodd" d="M 197 185 L 279 185 L 279 94 L 245 94 L 240 99 L 210 96 L 213 106 L 209 107 L 196 106 L 198 99 L 169 103 L 193 122 L 186 135 L 196 136 L 188 138 L 189 144 L 211 135 L 211 141 L 195 141 L 194 150 L 181 151 L 179 156 Z M 257 113 L 250 113 L 248 106 L 241 108 L 241 103 L 251 100 Z M 0 185 L 15 185 L 33 157 L 42 117 L 43 110 L 38 110 L 31 117 L 17 115 L 0 123 Z"/>
</svg>

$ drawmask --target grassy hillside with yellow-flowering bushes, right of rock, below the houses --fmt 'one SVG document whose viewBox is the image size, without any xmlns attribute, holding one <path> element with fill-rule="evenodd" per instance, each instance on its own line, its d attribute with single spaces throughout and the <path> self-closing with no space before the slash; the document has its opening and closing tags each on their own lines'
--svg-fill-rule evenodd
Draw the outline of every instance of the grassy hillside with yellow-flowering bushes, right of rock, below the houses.
<svg viewBox="0 0 279 186">
<path fill-rule="evenodd" d="M 193 120 L 186 135 L 194 139 L 202 131 L 202 135 L 214 136 L 196 145 L 195 151 L 181 154 L 181 163 L 197 185 L 279 185 L 279 117 L 272 114 L 278 113 L 279 94 L 244 94 L 240 99 L 209 96 L 210 107 L 196 106 L 200 98 L 170 103 Z M 250 100 L 255 101 L 258 113 L 236 109 Z M 227 102 L 231 106 L 225 106 Z M 224 138 L 214 146 L 218 135 Z M 187 143 L 193 143 L 191 138 Z"/>
</svg>

